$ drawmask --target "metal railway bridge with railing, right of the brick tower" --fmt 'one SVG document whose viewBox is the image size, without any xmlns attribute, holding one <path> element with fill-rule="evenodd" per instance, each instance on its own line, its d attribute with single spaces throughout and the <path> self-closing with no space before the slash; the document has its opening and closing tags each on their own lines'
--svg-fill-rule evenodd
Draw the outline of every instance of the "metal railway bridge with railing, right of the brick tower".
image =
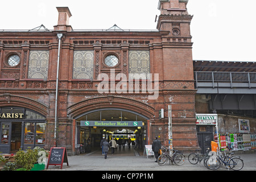
<svg viewBox="0 0 256 182">
<path fill-rule="evenodd" d="M 256 63 L 193 61 L 197 94 L 209 110 L 256 118 Z"/>
</svg>

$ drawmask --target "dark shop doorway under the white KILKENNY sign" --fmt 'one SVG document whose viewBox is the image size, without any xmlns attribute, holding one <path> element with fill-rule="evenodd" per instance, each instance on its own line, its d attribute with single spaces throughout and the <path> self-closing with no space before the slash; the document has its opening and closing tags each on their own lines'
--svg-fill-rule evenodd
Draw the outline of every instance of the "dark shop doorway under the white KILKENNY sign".
<svg viewBox="0 0 256 182">
<path fill-rule="evenodd" d="M 211 148 L 210 142 L 213 141 L 213 126 L 200 125 L 196 126 L 196 129 L 199 147 L 202 150 L 201 153 L 206 154 L 207 148 Z"/>
</svg>

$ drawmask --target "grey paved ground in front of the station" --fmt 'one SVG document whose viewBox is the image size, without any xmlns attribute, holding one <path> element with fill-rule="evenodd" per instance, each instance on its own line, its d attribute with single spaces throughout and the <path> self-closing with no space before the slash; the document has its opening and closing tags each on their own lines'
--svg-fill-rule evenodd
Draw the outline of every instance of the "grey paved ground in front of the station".
<svg viewBox="0 0 256 182">
<path fill-rule="evenodd" d="M 242 171 L 256 171 L 256 153 L 236 154 L 236 156 L 241 156 L 243 159 Z M 182 166 L 169 162 L 159 166 L 152 156 L 147 157 L 143 151 L 134 148 L 117 149 L 114 155 L 108 154 L 107 159 L 104 159 L 100 150 L 68 156 L 68 164 L 67 166 L 67 163 L 63 163 L 62 169 L 60 166 L 49 166 L 45 171 L 210 171 L 204 167 L 203 162 L 193 165 L 188 162 L 188 158 Z M 228 169 L 221 167 L 217 171 L 228 171 Z"/>
</svg>

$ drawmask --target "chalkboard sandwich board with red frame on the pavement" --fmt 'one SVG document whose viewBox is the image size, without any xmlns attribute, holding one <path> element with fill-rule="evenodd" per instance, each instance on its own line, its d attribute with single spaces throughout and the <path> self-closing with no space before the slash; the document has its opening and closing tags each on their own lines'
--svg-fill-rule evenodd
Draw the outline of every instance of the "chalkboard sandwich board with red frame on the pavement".
<svg viewBox="0 0 256 182">
<path fill-rule="evenodd" d="M 51 147 L 46 168 L 48 169 L 49 165 L 59 165 L 62 169 L 63 163 L 67 163 L 68 165 L 68 155 L 66 147 Z"/>
</svg>

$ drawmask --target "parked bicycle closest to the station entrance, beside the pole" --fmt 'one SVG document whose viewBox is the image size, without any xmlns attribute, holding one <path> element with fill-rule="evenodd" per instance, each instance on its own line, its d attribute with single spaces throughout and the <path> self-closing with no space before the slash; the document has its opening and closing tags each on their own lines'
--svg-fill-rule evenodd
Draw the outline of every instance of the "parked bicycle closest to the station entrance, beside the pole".
<svg viewBox="0 0 256 182">
<path fill-rule="evenodd" d="M 177 164 L 178 166 L 181 166 L 185 163 L 185 156 L 182 154 L 182 152 L 178 150 L 173 150 L 173 153 L 171 155 L 170 148 L 163 146 L 162 155 L 158 157 L 159 166 L 164 166 L 164 164 L 166 164 L 168 160 L 172 163 Z"/>
</svg>

